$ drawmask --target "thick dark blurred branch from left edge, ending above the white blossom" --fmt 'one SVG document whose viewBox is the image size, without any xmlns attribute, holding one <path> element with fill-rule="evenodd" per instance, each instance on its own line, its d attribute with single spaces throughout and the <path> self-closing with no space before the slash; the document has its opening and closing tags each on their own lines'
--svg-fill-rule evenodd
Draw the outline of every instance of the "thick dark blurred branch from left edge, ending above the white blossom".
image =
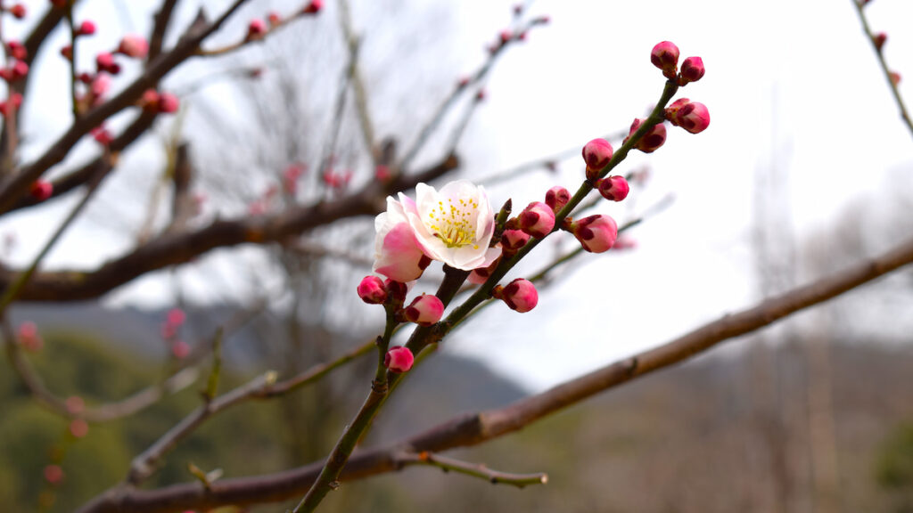
<svg viewBox="0 0 913 513">
<path fill-rule="evenodd" d="M 37 273 L 24 287 L 20 301 L 74 301 L 98 298 L 113 288 L 150 271 L 183 264 L 216 247 L 267 244 L 296 236 L 320 225 L 356 215 L 374 215 L 385 208 L 386 194 L 428 182 L 458 167 L 451 155 L 446 161 L 391 183 L 369 183 L 362 191 L 328 203 L 298 206 L 278 215 L 216 220 L 211 225 L 181 234 L 163 234 L 130 253 L 103 264 L 92 272 L 55 271 Z M 0 270 L 0 288 L 7 287 L 16 271 Z"/>
</svg>

